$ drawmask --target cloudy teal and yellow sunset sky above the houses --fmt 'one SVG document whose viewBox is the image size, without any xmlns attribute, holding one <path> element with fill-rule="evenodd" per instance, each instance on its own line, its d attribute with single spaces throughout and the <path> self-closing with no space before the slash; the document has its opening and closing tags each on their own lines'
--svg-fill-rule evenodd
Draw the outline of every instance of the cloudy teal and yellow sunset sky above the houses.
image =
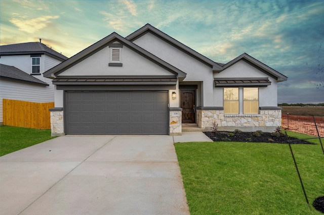
<svg viewBox="0 0 324 215">
<path fill-rule="evenodd" d="M 324 1 L 1 0 L 0 13 L 1 45 L 42 38 L 71 57 L 149 23 L 213 61 L 246 52 L 288 76 L 278 84 L 279 103 L 324 102 L 312 70 L 324 63 Z"/>
</svg>

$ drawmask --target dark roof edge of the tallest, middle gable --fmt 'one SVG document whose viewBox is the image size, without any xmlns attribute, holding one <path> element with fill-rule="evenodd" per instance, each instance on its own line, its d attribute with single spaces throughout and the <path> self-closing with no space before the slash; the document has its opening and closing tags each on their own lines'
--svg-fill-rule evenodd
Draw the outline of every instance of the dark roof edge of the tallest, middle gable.
<svg viewBox="0 0 324 215">
<path fill-rule="evenodd" d="M 213 71 L 220 71 L 222 70 L 222 66 L 209 58 L 201 55 L 197 51 L 193 50 L 192 48 L 184 45 L 183 43 L 179 42 L 178 40 L 174 39 L 173 37 L 169 36 L 168 34 L 158 30 L 157 28 L 154 28 L 150 24 L 146 24 L 142 28 L 138 29 L 134 33 L 128 35 L 126 39 L 130 41 L 134 41 L 137 38 L 143 36 L 144 34 L 150 32 L 151 34 L 159 37 L 160 39 L 163 39 L 164 41 L 168 42 L 169 44 L 173 45 L 174 47 L 178 48 L 179 50 L 185 52 L 187 55 L 190 55 L 191 57 L 197 59 L 200 62 L 203 62 L 210 67 L 213 68 Z"/>
</svg>

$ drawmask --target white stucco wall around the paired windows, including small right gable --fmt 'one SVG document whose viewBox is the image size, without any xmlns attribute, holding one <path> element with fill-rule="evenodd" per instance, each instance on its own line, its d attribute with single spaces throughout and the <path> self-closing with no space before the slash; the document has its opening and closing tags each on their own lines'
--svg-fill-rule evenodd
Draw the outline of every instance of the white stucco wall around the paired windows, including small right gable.
<svg viewBox="0 0 324 215">
<path fill-rule="evenodd" d="M 269 78 L 271 85 L 259 88 L 259 106 L 277 106 L 277 81 L 244 61 L 215 73 L 214 78 Z M 214 87 L 214 106 L 223 106 L 222 87 Z"/>
</svg>

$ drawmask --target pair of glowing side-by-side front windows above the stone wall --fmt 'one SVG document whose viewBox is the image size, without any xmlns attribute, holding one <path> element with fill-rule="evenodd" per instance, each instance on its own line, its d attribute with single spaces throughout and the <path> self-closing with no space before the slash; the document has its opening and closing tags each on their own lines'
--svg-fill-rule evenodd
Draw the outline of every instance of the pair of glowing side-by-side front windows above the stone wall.
<svg viewBox="0 0 324 215">
<path fill-rule="evenodd" d="M 258 113 L 258 87 L 224 87 L 224 114 Z"/>
</svg>

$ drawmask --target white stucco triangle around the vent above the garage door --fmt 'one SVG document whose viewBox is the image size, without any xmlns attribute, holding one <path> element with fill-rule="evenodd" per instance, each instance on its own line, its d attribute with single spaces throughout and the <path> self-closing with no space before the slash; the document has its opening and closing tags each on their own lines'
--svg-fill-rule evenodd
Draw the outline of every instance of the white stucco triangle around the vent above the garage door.
<svg viewBox="0 0 324 215">
<path fill-rule="evenodd" d="M 105 47 L 89 58 L 67 69 L 60 76 L 89 75 L 174 75 L 124 46 L 121 50 L 122 67 L 108 66 L 110 48 Z"/>
</svg>

